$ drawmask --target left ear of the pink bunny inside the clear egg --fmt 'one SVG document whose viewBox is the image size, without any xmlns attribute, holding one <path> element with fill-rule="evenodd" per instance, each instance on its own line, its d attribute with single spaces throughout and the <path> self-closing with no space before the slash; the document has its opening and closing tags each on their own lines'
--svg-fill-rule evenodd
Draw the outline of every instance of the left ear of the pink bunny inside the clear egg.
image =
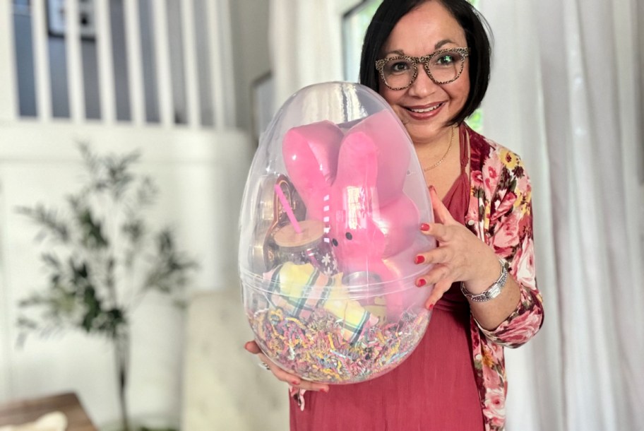
<svg viewBox="0 0 644 431">
<path fill-rule="evenodd" d="M 321 205 L 319 196 L 335 179 L 342 136 L 338 126 L 328 121 L 294 127 L 284 136 L 284 164 L 309 211 Z"/>
</svg>

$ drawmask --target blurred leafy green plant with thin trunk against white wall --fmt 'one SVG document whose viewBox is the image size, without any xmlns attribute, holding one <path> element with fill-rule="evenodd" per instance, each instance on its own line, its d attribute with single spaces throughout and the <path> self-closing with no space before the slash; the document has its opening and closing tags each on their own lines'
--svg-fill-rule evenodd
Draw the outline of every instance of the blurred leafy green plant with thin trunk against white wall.
<svg viewBox="0 0 644 431">
<path fill-rule="evenodd" d="M 79 148 L 88 177 L 67 196 L 64 211 L 42 204 L 18 208 L 40 227 L 38 239 L 47 240 L 47 287 L 20 300 L 19 341 L 32 332 L 68 329 L 107 338 L 117 364 L 122 428 L 131 431 L 131 314 L 152 291 L 180 305 L 196 262 L 179 252 L 172 230 L 148 225 L 145 211 L 158 190 L 153 179 L 133 172 L 140 153 L 96 155 L 86 144 Z M 126 290 L 136 294 L 123 295 Z"/>
</svg>

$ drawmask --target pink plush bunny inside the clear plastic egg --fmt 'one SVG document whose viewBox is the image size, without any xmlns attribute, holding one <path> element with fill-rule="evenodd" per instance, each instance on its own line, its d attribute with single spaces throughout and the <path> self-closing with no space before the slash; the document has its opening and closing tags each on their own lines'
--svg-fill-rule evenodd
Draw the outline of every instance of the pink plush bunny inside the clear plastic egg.
<svg viewBox="0 0 644 431">
<path fill-rule="evenodd" d="M 396 292 L 413 268 L 419 211 L 403 186 L 409 137 L 383 110 L 346 132 L 323 121 L 294 127 L 282 143 L 287 174 L 306 206 L 322 220 L 345 279 L 383 281 Z M 413 283 L 413 281 L 412 281 Z M 383 292 L 386 293 L 386 292 Z M 402 294 L 386 295 L 390 315 L 403 311 Z"/>
</svg>

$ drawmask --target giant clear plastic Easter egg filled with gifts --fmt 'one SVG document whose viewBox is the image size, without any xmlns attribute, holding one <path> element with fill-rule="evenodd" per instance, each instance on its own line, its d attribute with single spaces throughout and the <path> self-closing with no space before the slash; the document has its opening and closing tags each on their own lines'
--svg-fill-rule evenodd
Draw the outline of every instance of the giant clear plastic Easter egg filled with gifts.
<svg viewBox="0 0 644 431">
<path fill-rule="evenodd" d="M 300 377 L 362 382 L 422 338 L 433 220 L 412 141 L 363 85 L 311 85 L 260 139 L 241 208 L 239 276 L 261 350 Z"/>
</svg>

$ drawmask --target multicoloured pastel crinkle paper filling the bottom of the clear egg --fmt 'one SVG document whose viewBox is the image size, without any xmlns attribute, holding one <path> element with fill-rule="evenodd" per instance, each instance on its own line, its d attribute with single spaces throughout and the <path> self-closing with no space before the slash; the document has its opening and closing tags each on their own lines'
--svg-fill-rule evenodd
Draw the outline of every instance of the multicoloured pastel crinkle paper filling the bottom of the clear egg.
<svg viewBox="0 0 644 431">
<path fill-rule="evenodd" d="M 331 384 L 362 382 L 392 370 L 414 350 L 429 323 L 429 312 L 404 313 L 400 321 L 376 324 L 350 343 L 325 309 L 309 320 L 286 317 L 284 309 L 249 314 L 261 349 L 280 367 L 303 379 Z"/>
</svg>

